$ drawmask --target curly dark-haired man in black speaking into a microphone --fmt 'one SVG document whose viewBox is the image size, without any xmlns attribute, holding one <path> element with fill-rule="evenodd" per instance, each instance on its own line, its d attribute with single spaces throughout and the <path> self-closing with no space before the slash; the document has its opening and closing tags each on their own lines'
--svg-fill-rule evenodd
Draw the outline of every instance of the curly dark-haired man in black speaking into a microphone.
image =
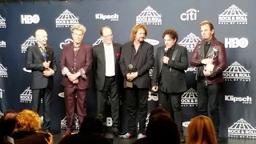
<svg viewBox="0 0 256 144">
<path fill-rule="evenodd" d="M 166 46 L 159 47 L 154 60 L 152 91 L 158 91 L 159 106 L 173 115 L 178 129 L 182 130 L 182 94 L 187 90 L 185 71 L 188 68 L 186 47 L 179 46 L 176 30 L 167 29 L 162 34 Z M 182 138 L 185 142 L 185 138 Z"/>
</svg>

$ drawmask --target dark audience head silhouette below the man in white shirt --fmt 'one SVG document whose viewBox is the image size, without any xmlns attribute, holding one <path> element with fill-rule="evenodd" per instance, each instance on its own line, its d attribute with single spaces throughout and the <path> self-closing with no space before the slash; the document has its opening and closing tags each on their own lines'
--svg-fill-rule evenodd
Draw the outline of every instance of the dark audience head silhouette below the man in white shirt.
<svg viewBox="0 0 256 144">
<path fill-rule="evenodd" d="M 103 134 L 104 126 L 98 118 L 85 117 L 79 130 L 80 134 L 96 133 Z"/>
</svg>

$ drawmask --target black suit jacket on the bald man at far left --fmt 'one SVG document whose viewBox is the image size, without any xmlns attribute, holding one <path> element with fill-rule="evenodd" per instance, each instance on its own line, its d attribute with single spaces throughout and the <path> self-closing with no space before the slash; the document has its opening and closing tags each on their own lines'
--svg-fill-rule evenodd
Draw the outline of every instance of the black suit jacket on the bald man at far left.
<svg viewBox="0 0 256 144">
<path fill-rule="evenodd" d="M 48 58 L 50 61 L 50 68 L 53 69 L 56 73 L 57 65 L 54 57 L 54 50 L 48 46 L 50 57 Z M 43 76 L 44 67 L 42 63 L 44 59 L 42 57 L 42 53 L 38 47 L 38 44 L 34 46 L 30 46 L 26 50 L 26 62 L 25 67 L 27 70 L 32 70 L 32 78 L 31 78 L 31 86 L 30 89 L 43 89 L 46 86 L 52 88 L 54 78 L 53 76 L 45 77 Z"/>
</svg>

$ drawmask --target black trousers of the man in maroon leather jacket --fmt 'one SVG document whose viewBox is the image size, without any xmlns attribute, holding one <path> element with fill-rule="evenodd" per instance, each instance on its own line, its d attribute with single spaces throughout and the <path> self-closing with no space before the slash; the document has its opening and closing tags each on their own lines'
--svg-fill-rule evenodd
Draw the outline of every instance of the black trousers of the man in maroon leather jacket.
<svg viewBox="0 0 256 144">
<path fill-rule="evenodd" d="M 205 79 L 199 79 L 197 82 L 198 91 L 198 112 L 200 115 L 208 116 L 208 102 L 210 105 L 210 116 L 214 123 L 216 135 L 218 136 L 218 130 L 220 125 L 220 118 L 218 112 L 218 97 L 222 94 L 221 85 L 208 84 L 206 86 Z"/>
</svg>

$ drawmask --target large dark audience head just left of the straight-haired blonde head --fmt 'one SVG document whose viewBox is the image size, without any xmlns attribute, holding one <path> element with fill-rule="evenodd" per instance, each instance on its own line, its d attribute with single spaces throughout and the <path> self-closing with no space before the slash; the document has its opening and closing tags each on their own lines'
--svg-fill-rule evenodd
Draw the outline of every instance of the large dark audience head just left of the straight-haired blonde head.
<svg viewBox="0 0 256 144">
<path fill-rule="evenodd" d="M 166 112 L 159 112 L 150 117 L 146 127 L 146 138 L 150 144 L 181 142 L 178 126 Z"/>
</svg>

